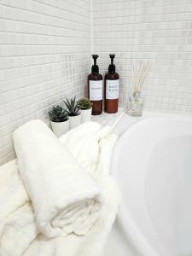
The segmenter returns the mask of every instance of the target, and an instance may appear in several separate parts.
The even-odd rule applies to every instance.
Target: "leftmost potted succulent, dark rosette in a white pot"
[[[67,111],[57,105],[49,111],[50,125],[57,137],[69,130],[69,119]]]

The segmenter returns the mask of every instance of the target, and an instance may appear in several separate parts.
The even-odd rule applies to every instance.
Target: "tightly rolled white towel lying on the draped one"
[[[47,237],[86,234],[102,208],[96,182],[40,120],[20,126],[14,144],[38,229]]]

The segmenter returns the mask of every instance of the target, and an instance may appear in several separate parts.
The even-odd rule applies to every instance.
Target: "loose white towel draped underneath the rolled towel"
[[[119,190],[108,175],[116,136],[111,128],[96,123],[79,125],[61,137],[71,154],[86,172],[97,174],[103,207],[96,224],[85,236],[59,236],[48,239],[39,235],[30,198],[20,180],[17,160],[0,166],[0,255],[1,256],[100,256],[119,207]],[[98,136],[100,134],[100,136]],[[77,139],[73,139],[74,136]],[[94,143],[90,143],[94,142]],[[74,145],[74,146],[73,146]],[[77,149],[78,148],[78,149]],[[89,150],[87,149],[89,148]],[[96,157],[87,157],[96,153]],[[35,159],[33,159],[35,161]],[[87,163],[86,163],[87,162]],[[95,170],[93,167],[95,166]],[[91,174],[91,175],[92,175]]]

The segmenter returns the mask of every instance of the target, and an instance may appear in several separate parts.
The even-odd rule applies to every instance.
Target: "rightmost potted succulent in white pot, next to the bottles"
[[[90,100],[86,97],[83,97],[79,99],[78,104],[81,112],[82,123],[90,121],[92,112],[92,104]]]

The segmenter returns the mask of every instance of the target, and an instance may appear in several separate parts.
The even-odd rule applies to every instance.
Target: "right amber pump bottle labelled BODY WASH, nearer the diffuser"
[[[115,55],[109,55],[111,64],[108,66],[108,73],[105,75],[105,89],[104,89],[104,110],[106,113],[118,112],[119,100],[119,74],[115,72],[115,65],[113,59]]]

